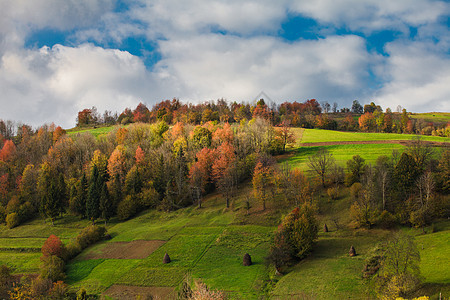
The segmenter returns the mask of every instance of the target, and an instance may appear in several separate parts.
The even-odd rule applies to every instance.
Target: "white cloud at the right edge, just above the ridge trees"
[[[387,46],[386,84],[375,101],[408,111],[450,111],[450,58],[434,44],[393,42]]]

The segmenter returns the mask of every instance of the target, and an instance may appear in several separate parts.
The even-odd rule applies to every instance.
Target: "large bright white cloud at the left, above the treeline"
[[[0,118],[71,127],[83,108],[121,111],[145,101],[149,76],[128,52],[89,44],[8,52],[0,64]]]

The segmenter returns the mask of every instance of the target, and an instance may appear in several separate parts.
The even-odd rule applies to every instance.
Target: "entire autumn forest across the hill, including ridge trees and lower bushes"
[[[0,121],[0,223],[5,230],[39,217],[52,225],[68,216],[92,223],[66,246],[51,236],[42,248],[46,267],[40,278],[55,282],[47,289],[53,292],[63,289],[59,280],[65,262],[104,238],[112,219],[129,220],[149,209],[202,209],[211,194],[219,194],[223,208],[231,209],[243,185],[251,187],[247,212],[256,205],[262,211],[273,205],[285,211],[266,257],[279,274],[313,251],[321,193],[335,200],[341,190],[349,191],[352,228],[425,230],[450,216],[450,123],[415,118],[406,109],[383,112],[373,102],[362,106],[356,100],[338,110],[337,104],[315,99],[280,105],[263,99],[255,105],[174,99],[151,109],[140,103],[120,114],[84,109],[76,122],[76,128],[64,130]],[[97,137],[85,131],[103,127],[108,130]],[[408,137],[404,151],[381,155],[374,164],[359,155],[338,164],[320,149],[308,157],[308,170],[301,170],[283,162],[295,152],[301,128],[415,135]],[[442,140],[424,139],[430,135]],[[410,247],[411,242],[398,237],[394,246],[402,243]],[[379,268],[380,261],[373,264]],[[58,268],[60,273],[49,271]],[[386,271],[380,293],[409,295],[419,281],[413,271],[408,266],[404,272]]]

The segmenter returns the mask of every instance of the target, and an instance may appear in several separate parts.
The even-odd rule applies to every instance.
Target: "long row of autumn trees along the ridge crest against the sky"
[[[263,118],[278,126],[288,122],[292,126],[305,128],[339,129],[345,131],[416,133],[426,135],[449,136],[450,126],[415,120],[409,117],[406,109],[398,108],[392,112],[389,108],[383,113],[379,105],[371,102],[364,107],[353,101],[351,109],[337,109],[337,103],[319,102],[315,99],[300,102],[266,104],[264,99],[255,105],[227,101],[205,102],[203,104],[183,104],[178,99],[162,101],[150,110],[139,103],[134,109],[126,108],[121,114],[105,111],[103,115],[95,107],[78,113],[77,126],[95,126],[100,124],[128,124],[132,122],[154,123],[165,121],[167,124],[182,122],[199,125],[209,121],[239,123],[242,120]]]

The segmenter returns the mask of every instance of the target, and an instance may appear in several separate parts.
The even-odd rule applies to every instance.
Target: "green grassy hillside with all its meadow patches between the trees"
[[[334,139],[334,135],[340,134],[324,130],[296,130],[295,133],[302,141],[306,137],[311,142],[323,141],[325,135]],[[349,133],[341,136],[341,141],[389,137],[376,135]],[[379,155],[390,155],[393,149],[404,148],[389,143],[301,146],[287,160],[295,167],[307,168],[307,157],[319,147],[333,153],[339,164],[355,154],[373,162]],[[86,249],[69,262],[66,282],[72,290],[83,287],[90,293],[118,298],[130,286],[168,298],[176,294],[186,276],[210,288],[224,290],[232,299],[371,299],[374,296],[361,278],[361,271],[365,259],[392,232],[350,228],[348,188],[342,187],[334,201],[324,191],[316,191],[314,202],[320,228],[326,223],[330,232],[321,232],[313,254],[283,276],[274,275],[273,269],[265,266],[264,257],[276,226],[289,208],[283,208],[275,198],[264,212],[260,203],[252,199],[247,214],[245,200],[250,194],[251,186],[247,182],[240,186],[229,209],[220,195],[212,194],[204,199],[202,209],[192,206],[168,213],[149,210],[126,222],[113,219],[107,225],[112,239]],[[36,273],[40,247],[50,234],[68,243],[89,223],[66,216],[57,220],[55,226],[38,219],[14,229],[1,227],[0,263],[6,263],[15,274]],[[420,292],[429,295],[442,292],[444,297],[449,297],[450,221],[437,223],[435,229],[436,232],[428,234],[416,229],[403,230],[417,236],[425,283]],[[356,248],[356,257],[348,256],[351,245]],[[163,264],[165,253],[172,259],[169,264]],[[251,255],[252,266],[242,265],[245,253]]]

